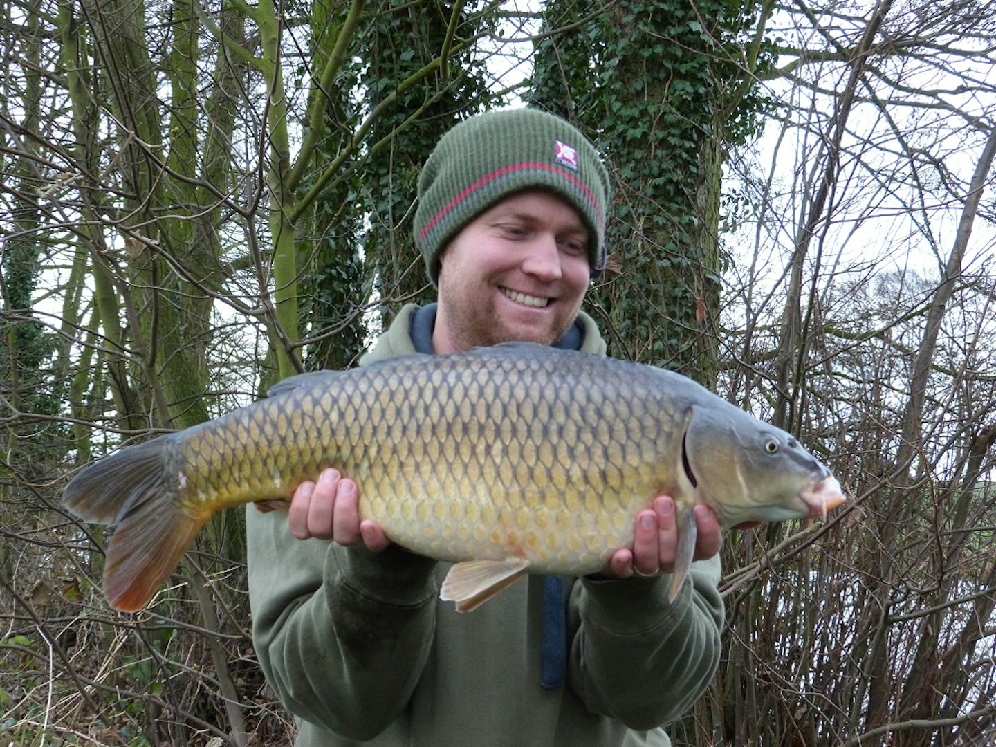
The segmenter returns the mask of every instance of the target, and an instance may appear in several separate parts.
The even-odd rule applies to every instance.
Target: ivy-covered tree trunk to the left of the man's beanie
[[[338,156],[365,118],[376,118],[363,156],[322,192],[299,226],[298,251],[306,258],[302,297],[309,304],[305,328],[317,338],[309,368],[356,363],[368,341],[367,305],[377,304],[386,323],[402,303],[434,296],[411,236],[421,164],[457,118],[493,100],[482,80],[466,72],[471,51],[460,46],[493,23],[487,14],[465,10],[445,75],[440,67],[418,78],[440,54],[451,13],[451,6],[435,2],[367,6],[364,44],[330,94],[317,170]],[[331,7],[315,5],[316,65],[341,21]],[[355,97],[357,91],[362,96]],[[303,181],[301,192],[313,183]]]

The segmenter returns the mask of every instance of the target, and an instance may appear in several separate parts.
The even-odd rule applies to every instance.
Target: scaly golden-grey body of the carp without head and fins
[[[436,357],[294,388],[191,429],[181,500],[286,497],[335,466],[358,483],[363,517],[409,550],[595,571],[672,486],[662,454],[677,427],[591,359],[562,371],[543,356]]]

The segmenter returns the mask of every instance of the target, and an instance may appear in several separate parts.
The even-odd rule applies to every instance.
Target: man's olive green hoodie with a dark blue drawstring
[[[413,353],[416,311],[361,365]],[[595,323],[579,324],[581,349],[604,355]],[[661,726],[719,661],[717,558],[692,564],[673,604],[666,575],[565,578],[566,683],[544,687],[544,577],[458,614],[438,600],[449,564],[296,540],[279,512],[249,507],[246,523],[253,641],[298,747],[664,747]]]

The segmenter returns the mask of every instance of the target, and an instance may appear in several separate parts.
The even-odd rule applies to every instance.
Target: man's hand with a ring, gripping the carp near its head
[[[696,505],[695,555],[692,560],[705,560],[719,552],[723,537],[712,509]],[[669,574],[674,570],[674,554],[678,546],[674,501],[666,495],[653,499],[653,508],[636,514],[632,548],[617,550],[609,561],[606,573],[619,579],[637,576]]]

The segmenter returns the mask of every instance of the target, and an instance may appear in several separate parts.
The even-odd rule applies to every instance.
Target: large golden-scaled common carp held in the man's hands
[[[694,504],[732,527],[845,500],[793,436],[685,376],[530,343],[292,376],[88,466],[63,500],[118,525],[104,589],[133,612],[214,512],[288,499],[329,466],[357,482],[363,518],[390,540],[457,564],[440,597],[460,611],[525,573],[603,569],[657,495],[677,507],[672,599],[694,552]]]

